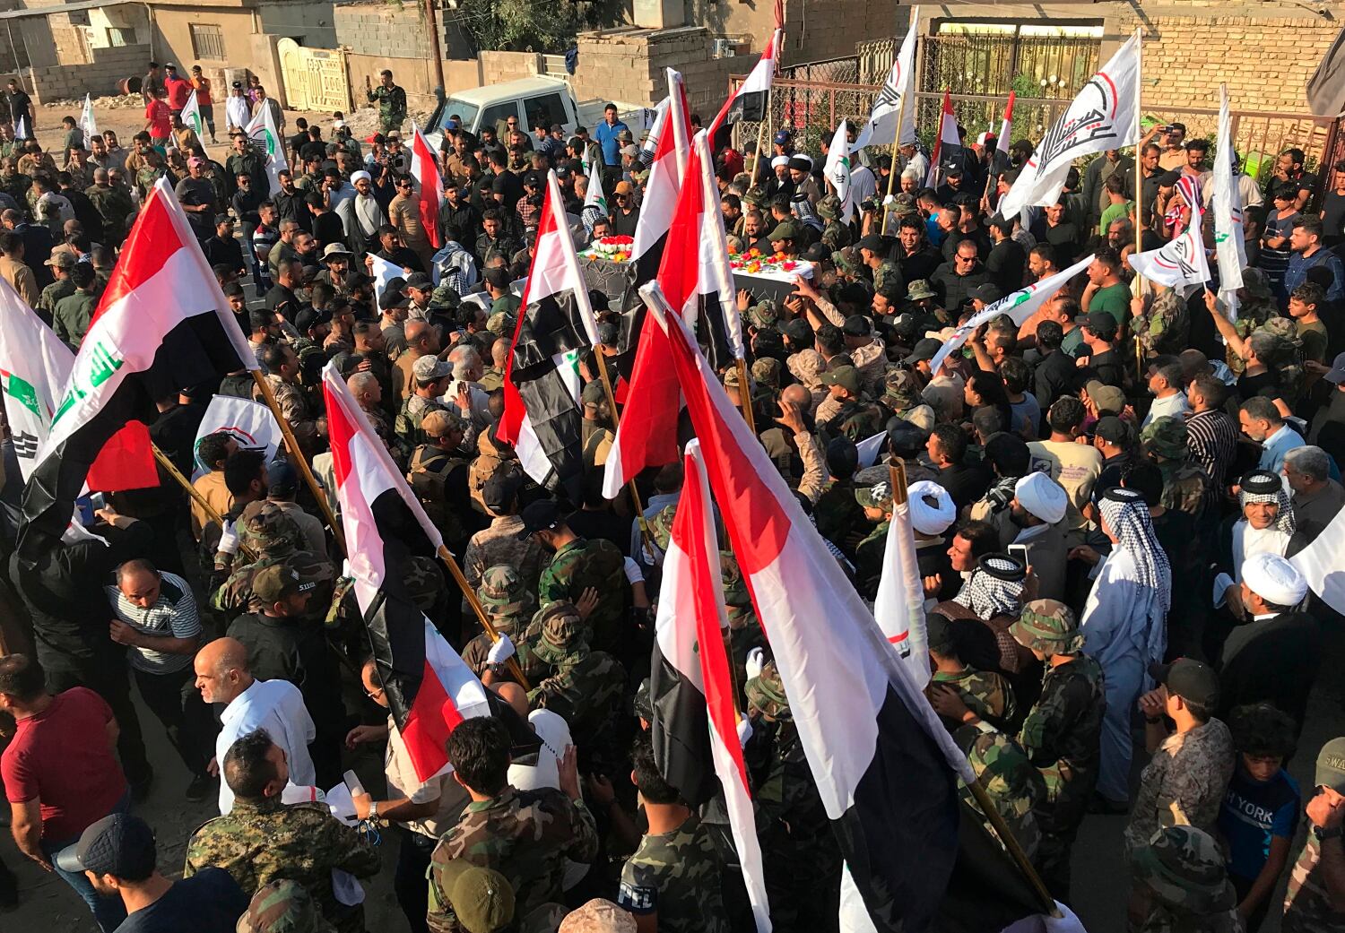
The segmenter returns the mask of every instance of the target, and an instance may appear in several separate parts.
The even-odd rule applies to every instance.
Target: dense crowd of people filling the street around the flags
[[[633,233],[650,153],[612,105],[569,134],[516,118],[475,134],[449,114],[434,247],[391,73],[369,89],[382,132],[355,140],[338,116],[324,137],[296,120],[274,191],[241,132],[274,101],[234,83],[219,163],[182,126],[183,85],[203,117],[211,106],[199,73],[151,66],[130,152],[112,133],[86,149],[73,120],[56,153],[13,138],[23,118],[35,128],[9,82],[0,277],[78,350],[137,206],[167,177],[299,448],[268,461],[227,432],[196,442],[213,395],[256,395],[246,370],[159,399],[151,437],[184,476],[200,472],[199,501],[167,476],[109,495],[100,538],[52,542],[27,569],[12,554],[23,481],[7,440],[5,589],[26,647],[0,657],[0,777],[19,851],[104,933],[362,930],[359,879],[385,860],[412,930],[753,929],[722,805],[689,807],[654,752],[655,604],[683,472],[646,471],[640,515],[603,496],[620,413],[596,354],[616,366],[628,350],[619,302],[593,292],[601,346],[577,360],[580,500],[541,488],[499,434],[527,313],[511,285],[529,272],[547,172],[582,247]],[[1345,505],[1345,164],[1325,186],[1298,149],[1271,177],[1237,173],[1248,266],[1227,315],[1213,292],[1184,297],[1127,262],[1137,242],[1200,220],[1209,145],[1180,124],[1150,130],[1138,165],[1104,153],[1071,171],[1059,203],[1007,219],[994,203],[1030,159],[1026,138],[1007,165],[993,137],[946,152],[937,187],[921,147],[896,163],[870,149],[851,223],[824,152],[798,151],[788,130],[756,159],[717,143],[730,249],[812,263],[780,301],[738,293],[748,379],[730,368],[725,390],[755,411],[865,600],[889,571],[894,501],[909,503],[925,696],[1050,894],[1071,902],[1085,815],[1124,816],[1128,929],[1250,932],[1280,911],[1286,932],[1345,929],[1345,738],[1297,749],[1340,617],[1290,559],[1340,534]],[[596,176],[607,211],[585,206]],[[932,371],[960,321],[1088,253],[1087,273],[1026,324],[994,319]],[[402,272],[381,290],[375,258]],[[503,636],[480,631],[436,559],[394,569],[499,700],[452,730],[452,768],[425,781],[296,468],[312,466],[339,514],[328,363]],[[724,549],[771,916],[779,930],[835,929],[839,850],[769,633]],[[132,812],[179,780],[149,761],[147,729],[180,758],[180,793],[218,807],[187,839],[180,879],[160,874],[163,840]],[[369,749],[385,780],[351,785]],[[1286,770],[1295,754],[1315,756],[1310,788]],[[340,786],[348,803],[324,799]],[[968,796],[970,819],[978,808]],[[15,897],[5,871],[0,898]]]

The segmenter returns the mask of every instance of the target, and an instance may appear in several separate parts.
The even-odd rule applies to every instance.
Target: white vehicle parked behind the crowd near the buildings
[[[638,104],[615,102],[620,118],[635,133],[639,141],[640,130],[654,118],[654,109]],[[461,125],[472,133],[480,133],[483,126],[494,126],[496,136],[504,138],[510,117],[519,121],[519,129],[529,136],[538,124],[551,126],[560,124],[569,136],[576,126],[586,126],[589,132],[603,120],[607,101],[586,101],[577,104],[570,86],[561,78],[521,78],[488,87],[472,87],[455,91],[444,98],[429,120],[425,137],[438,148],[444,137],[444,124],[449,117],[457,117]]]

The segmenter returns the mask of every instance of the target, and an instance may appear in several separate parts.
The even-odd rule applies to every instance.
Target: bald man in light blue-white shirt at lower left
[[[247,670],[247,649],[237,639],[217,639],[196,652],[192,664],[196,690],[207,703],[223,703],[215,757],[208,768],[219,774],[219,762],[234,739],[257,729],[270,733],[289,762],[289,781],[311,786],[316,780],[308,743],[317,737],[304,695],[288,680],[258,680]],[[219,782],[219,813],[234,808],[234,792]]]

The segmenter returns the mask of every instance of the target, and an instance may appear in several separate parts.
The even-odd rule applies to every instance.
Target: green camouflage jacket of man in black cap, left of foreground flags
[[[588,641],[597,651],[611,651],[623,643],[631,605],[625,558],[612,542],[577,538],[555,551],[538,579],[537,605],[545,608],[561,600],[578,602],[590,586],[597,590],[599,604],[588,617],[592,633]]]

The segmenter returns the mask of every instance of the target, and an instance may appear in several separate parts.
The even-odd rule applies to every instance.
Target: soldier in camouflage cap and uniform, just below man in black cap
[[[592,651],[584,620],[572,602],[543,606],[527,626],[527,702],[565,719],[585,756],[621,757],[616,717],[625,691],[625,668],[605,651]]]

